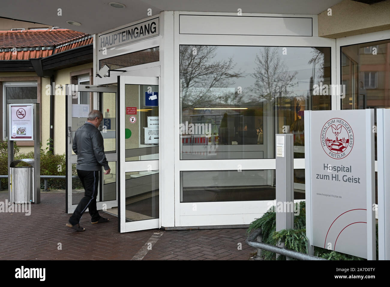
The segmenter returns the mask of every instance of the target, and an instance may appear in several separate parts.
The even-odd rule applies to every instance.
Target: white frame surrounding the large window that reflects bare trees
[[[214,12],[174,12],[174,94],[175,94],[175,123],[174,130],[179,131],[180,125],[180,78],[179,78],[179,45],[226,45],[226,46],[282,46],[282,47],[330,47],[331,50],[331,82],[336,83],[336,44],[335,39],[318,37],[317,15],[276,15],[276,14],[247,14],[247,16],[270,17],[307,17],[312,18],[313,36],[261,36],[261,35],[211,35],[211,34],[180,34],[180,15],[229,15],[237,16],[237,13]],[[243,13],[244,16],[244,13]],[[218,17],[215,17],[215,25],[218,25]],[[191,23],[190,23],[191,24]],[[193,22],[194,29],[202,29],[202,25]],[[189,23],[187,23],[189,25]],[[242,30],[245,30],[243,22]],[[189,25],[191,26],[191,25]],[[288,49],[288,48],[287,48]],[[332,110],[336,109],[335,96],[332,96]],[[255,217],[267,210],[268,201],[226,201],[226,202],[180,202],[180,172],[181,171],[217,171],[237,170],[238,165],[242,170],[250,169],[275,169],[275,159],[240,159],[240,160],[180,160],[180,135],[174,134],[175,150],[175,226],[211,226],[211,225],[243,225],[249,224]],[[294,169],[304,169],[305,159],[294,159]],[[196,205],[194,209],[193,204]],[[234,214],[232,214],[234,210]]]

